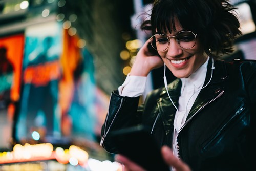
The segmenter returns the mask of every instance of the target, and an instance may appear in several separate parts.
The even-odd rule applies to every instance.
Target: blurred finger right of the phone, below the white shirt
[[[176,156],[173,155],[172,149],[167,146],[163,146],[161,149],[164,161],[173,166],[177,171],[190,171],[190,168],[187,164],[179,160]]]

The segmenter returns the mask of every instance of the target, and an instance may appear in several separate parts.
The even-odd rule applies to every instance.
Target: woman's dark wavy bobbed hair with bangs
[[[156,30],[171,33],[177,18],[185,30],[198,35],[207,55],[218,57],[233,52],[233,41],[242,34],[235,9],[224,0],[155,0],[141,29],[152,35]]]

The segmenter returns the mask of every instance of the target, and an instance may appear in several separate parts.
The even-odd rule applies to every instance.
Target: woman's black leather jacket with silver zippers
[[[202,89],[185,124],[178,133],[178,156],[193,170],[253,170],[256,162],[256,62],[214,61],[215,70],[208,86]],[[208,63],[205,83],[211,75]],[[175,105],[181,80],[168,85]],[[116,129],[143,123],[160,146],[172,147],[175,108],[165,88],[148,94],[138,108],[139,97],[111,94],[109,112],[102,126],[103,147],[118,153],[108,134]],[[256,167],[254,167],[256,170]]]

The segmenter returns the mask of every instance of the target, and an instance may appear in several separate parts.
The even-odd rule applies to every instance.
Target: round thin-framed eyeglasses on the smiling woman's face
[[[177,43],[183,49],[190,49],[196,45],[197,35],[191,31],[180,31],[175,36],[166,36],[164,34],[155,34],[150,38],[151,46],[157,51],[165,51],[170,46],[170,39],[175,38]]]

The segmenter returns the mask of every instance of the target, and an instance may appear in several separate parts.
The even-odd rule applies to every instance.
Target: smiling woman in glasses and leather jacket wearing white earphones
[[[144,124],[163,146],[166,163],[176,170],[251,170],[256,63],[217,59],[232,52],[233,40],[241,35],[233,10],[223,0],[154,2],[150,20],[142,24],[153,36],[111,94],[102,126],[106,151],[118,153],[108,137],[112,131]],[[146,76],[163,65],[177,79],[167,85],[164,76],[165,87],[149,93],[138,108]],[[117,160],[126,170],[143,170],[124,156]]]

